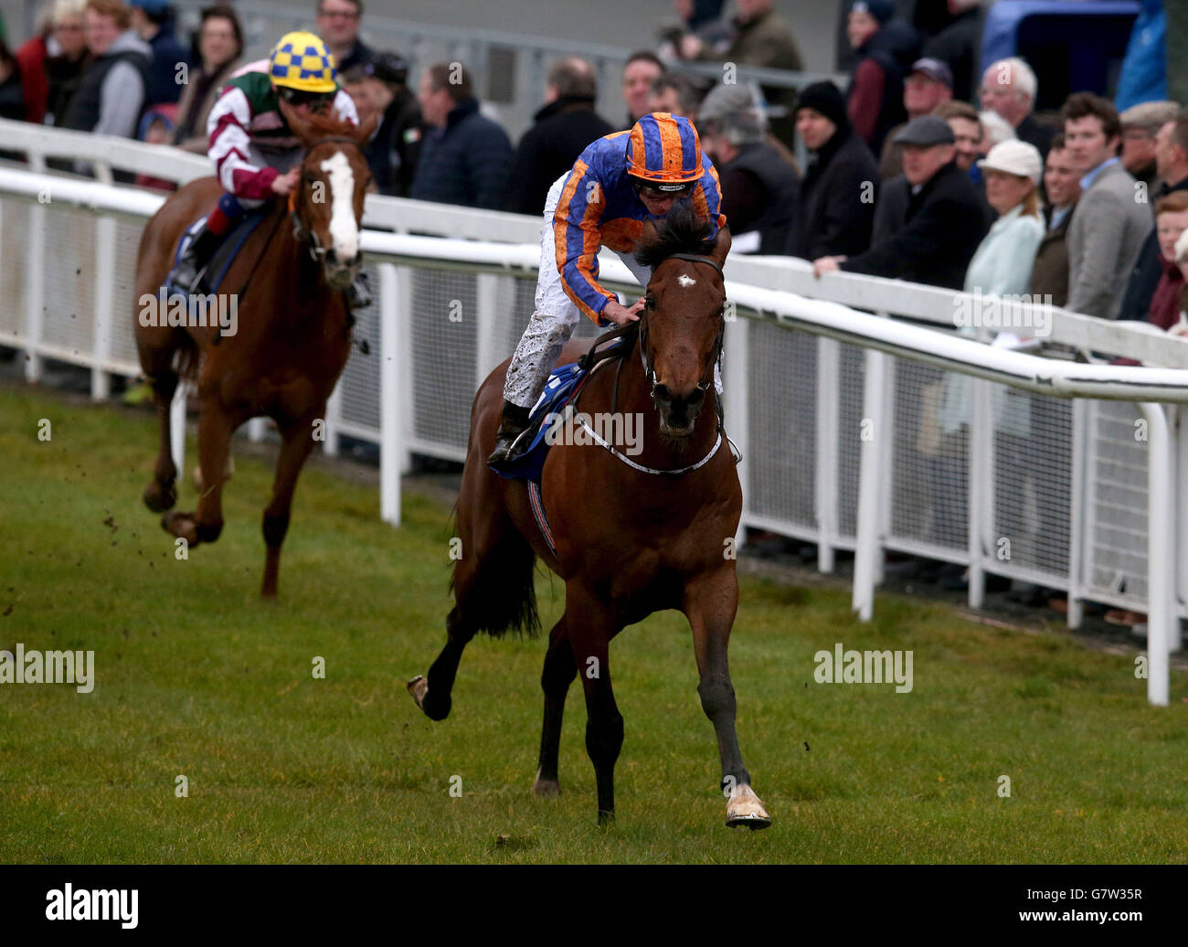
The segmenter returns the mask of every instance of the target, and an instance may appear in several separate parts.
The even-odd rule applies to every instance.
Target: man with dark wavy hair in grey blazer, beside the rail
[[[1081,200],[1068,227],[1068,305],[1114,318],[1126,279],[1154,222],[1135,178],[1118,158],[1121,121],[1113,103],[1074,93],[1061,109],[1064,140],[1081,172]]]

